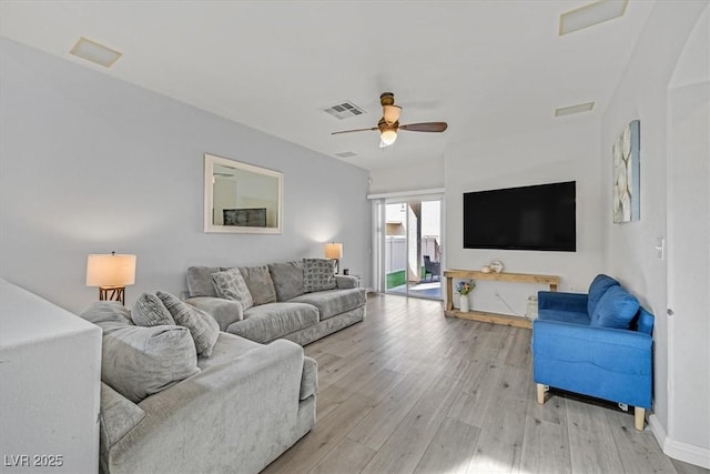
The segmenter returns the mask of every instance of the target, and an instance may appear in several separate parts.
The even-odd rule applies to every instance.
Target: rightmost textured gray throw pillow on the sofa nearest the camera
[[[190,330],[197,354],[209,357],[220,336],[220,325],[214,317],[195,306],[183,303],[170,293],[159,291],[156,294],[175,323]]]

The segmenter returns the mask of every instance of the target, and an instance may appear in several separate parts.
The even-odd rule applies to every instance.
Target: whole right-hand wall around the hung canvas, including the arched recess
[[[683,8],[656,3],[601,122],[602,175],[609,177],[601,182],[609,215],[604,220],[605,268],[656,315],[651,428],[666,454],[706,467],[710,467],[708,3],[688,1]],[[689,50],[698,57],[683,61]],[[679,70],[678,64],[684,67]],[[611,143],[635,119],[641,127],[641,219],[612,224]],[[697,202],[688,204],[686,193]],[[681,204],[692,205],[692,212]],[[668,243],[665,259],[656,251],[659,239]],[[669,317],[667,307],[678,310],[677,315]]]

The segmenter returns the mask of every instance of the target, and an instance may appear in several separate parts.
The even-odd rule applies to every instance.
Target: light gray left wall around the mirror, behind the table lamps
[[[367,172],[104,73],[0,41],[0,271],[71,311],[95,300],[89,253],[138,254],[142,292],[189,265],[323,256],[369,275]],[[203,154],[284,172],[282,235],[203,232]]]

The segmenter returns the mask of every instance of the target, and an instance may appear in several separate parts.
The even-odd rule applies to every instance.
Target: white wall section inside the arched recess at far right
[[[691,446],[693,456],[698,446],[710,468],[710,7],[676,65],[668,103],[669,448]]]

